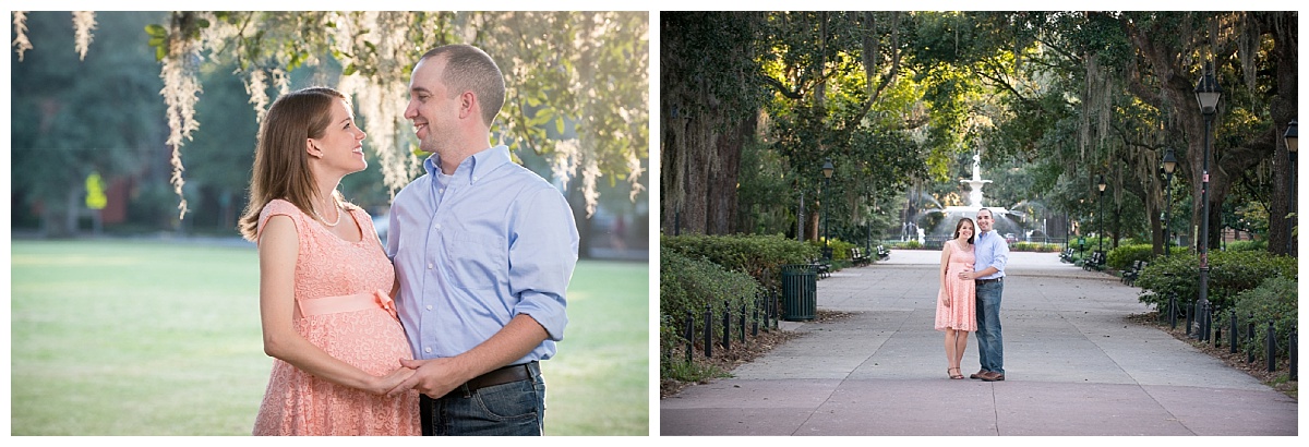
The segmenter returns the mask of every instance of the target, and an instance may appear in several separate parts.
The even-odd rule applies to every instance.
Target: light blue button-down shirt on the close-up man
[[[577,225],[559,190],[513,163],[507,146],[427,175],[391,203],[386,255],[397,311],[416,358],[462,354],[520,314],[550,333],[526,357],[548,359],[563,340],[565,290],[577,264]]]

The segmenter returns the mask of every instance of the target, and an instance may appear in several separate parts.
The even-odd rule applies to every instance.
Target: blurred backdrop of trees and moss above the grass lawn
[[[583,239],[580,256],[647,257],[648,13],[364,17],[348,12],[98,12],[85,31],[76,29],[76,14],[69,12],[24,16],[24,41],[31,48],[10,52],[14,237],[236,237],[259,108],[266,110],[280,91],[313,85],[353,93],[356,115],[369,133],[364,140],[369,169],[346,176],[340,191],[385,221],[391,193],[420,174],[418,166],[425,156],[411,153],[416,140],[399,116],[407,101],[410,60],[441,43],[469,42],[499,59],[511,84],[493,131],[499,142],[513,146],[522,165],[552,180],[573,204]],[[520,30],[529,35],[537,31],[534,38],[541,42],[526,48],[490,42],[503,30],[486,30],[482,24],[501,18],[525,26]],[[357,27],[342,31],[352,21]],[[187,22],[208,24],[188,30]],[[564,22],[576,29],[565,30]],[[220,25],[234,30],[220,30]],[[173,41],[152,42],[156,37],[148,26],[158,26]],[[363,33],[380,26],[395,30]],[[161,76],[169,73],[161,73],[164,63],[157,54],[162,54],[161,46],[179,46],[175,34],[191,31],[200,35],[192,42],[195,51],[164,59],[186,59],[190,72],[183,74],[192,76],[196,85],[188,105],[194,107],[194,129],[177,145],[185,182],[179,196],[170,182],[175,171],[169,120],[186,118],[179,119],[168,105],[164,90],[174,86]],[[350,31],[355,34],[348,42],[335,41],[347,39],[340,33]],[[84,56],[79,33],[90,37]],[[382,43],[368,41],[397,35],[404,42],[389,54]],[[488,42],[470,42],[463,35],[482,35]],[[579,42],[586,37],[589,42]],[[356,46],[377,50],[346,56]],[[605,67],[597,54],[610,51],[617,58]],[[391,60],[393,69],[367,73],[363,65],[380,59]],[[619,59],[622,64],[617,64]],[[395,64],[399,60],[407,63]],[[590,64],[585,68],[592,73],[581,73],[579,63]],[[594,89],[590,81],[605,82],[606,89]],[[390,90],[378,93],[380,88]],[[394,110],[382,111],[386,106]],[[381,120],[390,123],[377,123]],[[387,170],[401,175],[387,179]],[[185,216],[178,210],[182,199]]]

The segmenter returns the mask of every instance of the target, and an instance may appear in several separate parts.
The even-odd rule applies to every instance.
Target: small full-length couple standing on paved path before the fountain
[[[959,362],[969,332],[978,333],[982,369],[969,375],[986,382],[1004,380],[1004,341],[1000,337],[1000,294],[1009,244],[995,231],[995,217],[982,208],[977,226],[967,217],[954,225],[954,237],[941,250],[941,291],[936,302],[936,329],[945,332],[946,374],[963,379]],[[975,242],[975,243],[974,243]]]

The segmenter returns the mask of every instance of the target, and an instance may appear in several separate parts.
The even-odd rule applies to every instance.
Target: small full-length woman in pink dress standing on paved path
[[[969,346],[969,332],[977,331],[977,288],[959,273],[973,272],[973,220],[965,217],[954,225],[954,238],[941,248],[941,291],[936,301],[936,329],[945,331],[945,359],[950,379],[963,379],[959,363]]]

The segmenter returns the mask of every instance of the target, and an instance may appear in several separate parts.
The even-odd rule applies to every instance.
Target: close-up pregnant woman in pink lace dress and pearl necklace
[[[395,272],[373,221],[336,184],[368,167],[346,97],[278,98],[259,127],[241,235],[259,244],[259,316],[272,374],[255,435],[418,435]]]

